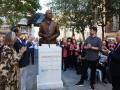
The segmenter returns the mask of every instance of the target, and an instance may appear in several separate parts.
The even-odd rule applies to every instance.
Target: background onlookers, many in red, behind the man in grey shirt
[[[109,51],[114,50],[116,45],[117,43],[115,40],[102,41],[102,48]],[[60,46],[62,48],[62,70],[66,71],[67,69],[75,69],[76,74],[80,74],[82,61],[85,59],[84,42],[77,43],[77,40],[71,37],[63,38],[63,40],[60,41]],[[108,63],[108,55],[101,51],[99,53],[97,68],[103,70],[107,68]],[[104,78],[106,76],[106,71],[103,70],[102,72]]]

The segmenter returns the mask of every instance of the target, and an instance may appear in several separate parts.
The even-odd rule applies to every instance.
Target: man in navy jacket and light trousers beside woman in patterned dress
[[[19,50],[22,47],[26,47],[27,50],[26,52],[23,54],[20,62],[19,62],[19,67],[20,67],[20,88],[21,90],[27,90],[27,76],[28,76],[28,68],[27,66],[29,65],[29,48],[27,47],[27,44],[23,43],[23,41],[20,39],[21,36],[21,32],[19,30],[18,27],[12,27],[11,29],[12,31],[14,31],[16,33],[16,42],[14,44],[14,48],[16,49],[16,51],[19,53]]]

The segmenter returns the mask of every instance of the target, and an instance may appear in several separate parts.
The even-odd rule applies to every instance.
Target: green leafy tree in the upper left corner
[[[34,14],[40,9],[37,0],[0,0],[0,16],[6,17],[9,24],[16,24],[28,14]]]

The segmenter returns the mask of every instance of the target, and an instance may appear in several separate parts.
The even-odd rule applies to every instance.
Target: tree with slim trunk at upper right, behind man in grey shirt
[[[93,9],[97,9],[97,20],[102,27],[102,38],[104,38],[104,27],[107,21],[112,21],[113,16],[120,18],[120,0],[92,0]],[[105,19],[104,19],[105,18]],[[119,19],[120,26],[120,19]],[[120,28],[120,27],[119,27]]]

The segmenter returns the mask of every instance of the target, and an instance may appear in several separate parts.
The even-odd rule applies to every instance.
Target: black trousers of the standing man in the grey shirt
[[[91,74],[90,74],[90,85],[95,83],[95,77],[96,77],[96,64],[97,64],[97,60],[96,61],[88,61],[88,60],[84,60],[82,62],[82,73],[81,73],[81,82],[84,82],[84,80],[86,79],[86,73],[88,68],[90,67],[91,69]]]

